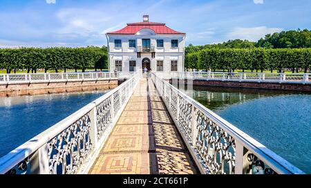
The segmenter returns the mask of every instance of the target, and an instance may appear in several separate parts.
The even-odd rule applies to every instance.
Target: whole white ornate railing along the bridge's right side
[[[157,74],[151,74],[151,79],[201,173],[303,174]]]

